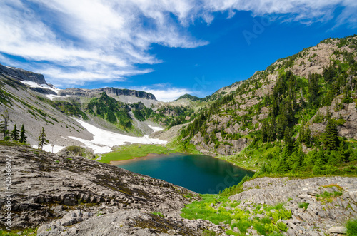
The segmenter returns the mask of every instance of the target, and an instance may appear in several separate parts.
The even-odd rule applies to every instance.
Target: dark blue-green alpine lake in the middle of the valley
[[[116,166],[166,180],[197,193],[211,194],[236,185],[245,175],[254,174],[253,171],[238,168],[224,160],[181,153],[136,158]]]

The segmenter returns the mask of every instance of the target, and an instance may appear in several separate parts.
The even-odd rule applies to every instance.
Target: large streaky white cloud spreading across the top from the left
[[[251,11],[253,15],[281,14],[283,21],[311,23],[333,19],[336,25],[357,26],[353,0],[2,0],[0,52],[25,58],[27,69],[44,73],[51,83],[121,81],[149,73],[138,64],[161,63],[151,55],[153,43],[196,48],[208,41],[195,39],[188,26],[196,19],[207,24],[213,13]],[[1,56],[1,61],[10,58]]]

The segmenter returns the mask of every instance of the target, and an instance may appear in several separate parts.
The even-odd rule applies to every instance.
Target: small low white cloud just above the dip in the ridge
[[[158,101],[163,102],[174,101],[186,93],[192,93],[192,91],[189,91],[186,88],[176,88],[166,83],[159,83],[144,87],[133,87],[131,89],[152,93]]]

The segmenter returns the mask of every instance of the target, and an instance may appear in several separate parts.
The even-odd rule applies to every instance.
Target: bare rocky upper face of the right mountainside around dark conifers
[[[333,68],[333,66],[341,68],[342,71],[337,72],[340,77],[342,74],[343,76],[346,75],[343,80],[347,81],[349,92],[342,92],[343,90],[346,91],[346,87],[342,87],[339,88],[340,90],[333,98],[329,98],[327,97],[328,91],[323,90],[324,86],[319,84],[319,96],[326,96],[323,99],[331,99],[329,101],[331,103],[326,102],[328,106],[321,106],[317,112],[314,111],[316,112],[313,113],[314,116],[309,116],[305,122],[308,122],[313,135],[323,133],[327,120],[323,119],[316,123],[315,118],[316,116],[323,116],[321,115],[323,113],[326,115],[328,109],[331,116],[336,120],[338,118],[345,120],[343,125],[338,125],[339,135],[346,138],[357,138],[356,100],[353,99],[357,96],[356,72],[354,71],[355,68],[350,66],[357,60],[356,40],[357,36],[326,39],[317,46],[306,48],[296,55],[276,61],[266,70],[257,71],[246,81],[233,83],[231,86],[222,88],[214,93],[217,96],[216,103],[213,102],[207,106],[205,111],[201,112],[199,117],[202,120],[197,120],[197,124],[193,123],[191,127],[188,127],[187,132],[183,133],[183,142],[189,140],[198,150],[207,155],[235,155],[241,152],[261,130],[263,123],[269,120],[272,111],[272,104],[269,101],[272,101],[273,96],[275,96],[273,91],[281,75],[291,71],[293,76],[296,77],[296,83],[299,83],[302,87],[299,88],[299,91],[294,91],[295,94],[290,98],[294,102],[294,109],[296,109],[297,106],[308,103],[308,97],[311,96],[309,94],[311,92],[308,91],[310,79],[308,76],[313,73],[321,77],[326,76],[326,71],[331,70],[330,68]],[[321,79],[319,83],[322,83]],[[218,94],[221,94],[221,96],[218,96]],[[351,96],[348,103],[343,100],[346,98],[346,94]],[[224,99],[222,100],[222,98]],[[301,120],[301,118],[296,118],[296,120]],[[196,128],[194,128],[195,125],[197,125]],[[190,129],[195,131],[187,136]],[[253,133],[256,133],[256,135],[253,135]]]

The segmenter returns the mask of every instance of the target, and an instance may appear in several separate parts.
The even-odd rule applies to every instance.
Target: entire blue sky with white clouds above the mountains
[[[59,88],[134,88],[172,101],[356,28],[351,0],[2,0],[0,63]]]

